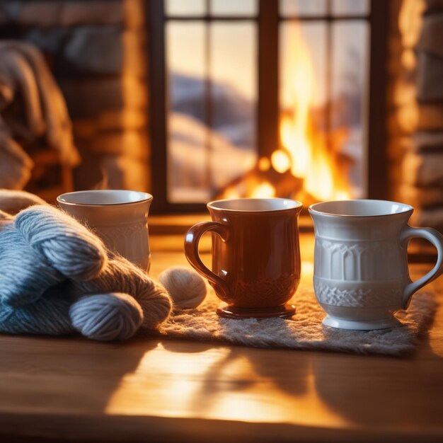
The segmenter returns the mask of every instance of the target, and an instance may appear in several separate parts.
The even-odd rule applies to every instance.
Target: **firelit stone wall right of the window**
[[[443,1],[392,8],[391,193],[416,208],[413,223],[443,231]]]

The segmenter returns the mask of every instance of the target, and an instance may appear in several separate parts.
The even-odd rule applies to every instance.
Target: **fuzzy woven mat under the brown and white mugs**
[[[323,326],[324,311],[313,289],[299,287],[293,300],[292,319],[229,319],[217,316],[220,304],[212,289],[197,308],[176,311],[160,330],[161,335],[188,340],[210,340],[251,347],[328,350],[356,354],[403,356],[412,354],[434,318],[437,302],[426,292],[414,295],[408,311],[399,311],[403,326],[383,330],[341,330]]]

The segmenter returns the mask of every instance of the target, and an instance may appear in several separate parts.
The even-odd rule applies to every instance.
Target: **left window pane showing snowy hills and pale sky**
[[[166,25],[168,200],[207,202],[255,164],[253,23]]]

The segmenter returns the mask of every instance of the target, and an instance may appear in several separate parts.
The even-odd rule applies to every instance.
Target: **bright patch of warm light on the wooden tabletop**
[[[279,359],[275,363],[280,364]],[[166,367],[172,372],[159,378]],[[293,386],[276,384],[269,367],[242,350],[220,347],[190,353],[178,347],[165,352],[158,345],[142,356],[134,372],[122,377],[105,413],[350,425],[318,396],[310,365],[281,370],[294,372]]]

